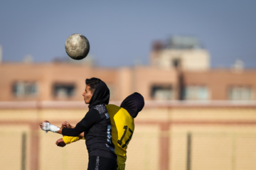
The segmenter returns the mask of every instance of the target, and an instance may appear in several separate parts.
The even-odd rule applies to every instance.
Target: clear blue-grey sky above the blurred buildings
[[[196,36],[210,52],[211,67],[240,59],[256,68],[256,1],[9,0],[0,4],[4,62],[68,57],[65,40],[81,33],[90,57],[102,67],[149,63],[154,40]],[[86,58],[85,58],[86,60]]]

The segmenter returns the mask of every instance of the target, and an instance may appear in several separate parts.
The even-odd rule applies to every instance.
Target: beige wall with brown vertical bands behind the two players
[[[113,102],[112,102],[113,103]],[[119,104],[119,102],[117,102]],[[39,130],[49,120],[75,125],[87,112],[83,103],[0,103],[3,169],[20,169],[22,135],[26,134],[27,169],[86,169],[84,141],[56,147],[61,136]],[[127,149],[127,169],[186,170],[188,132],[191,169],[256,169],[256,105],[184,104],[146,101],[135,119]]]

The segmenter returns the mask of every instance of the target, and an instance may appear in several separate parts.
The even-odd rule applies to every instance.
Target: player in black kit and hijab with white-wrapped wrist
[[[87,170],[115,170],[117,169],[117,155],[112,145],[110,116],[106,105],[110,101],[110,90],[104,81],[91,78],[86,79],[84,96],[89,104],[89,111],[75,128],[58,128],[48,121],[40,123],[41,129],[57,132],[62,135],[76,137],[85,134],[85,144],[89,154]]]

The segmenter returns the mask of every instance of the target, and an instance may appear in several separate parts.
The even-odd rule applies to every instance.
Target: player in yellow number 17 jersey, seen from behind
[[[107,112],[110,115],[112,143],[114,153],[117,154],[117,169],[124,170],[127,159],[127,145],[132,139],[134,132],[134,118],[142,111],[144,107],[144,98],[139,93],[134,93],[122,101],[121,106],[107,105]],[[73,128],[68,122],[63,123],[65,128]],[[57,140],[56,145],[64,147],[66,144],[78,141],[83,134],[78,137],[64,136]]]

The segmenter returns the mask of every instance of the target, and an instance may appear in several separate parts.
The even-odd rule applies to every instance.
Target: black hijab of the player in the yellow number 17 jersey
[[[121,106],[126,109],[133,118],[136,118],[138,113],[144,107],[144,98],[141,94],[135,92],[122,101]]]

